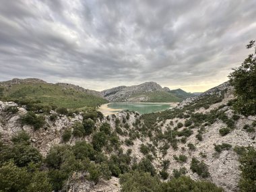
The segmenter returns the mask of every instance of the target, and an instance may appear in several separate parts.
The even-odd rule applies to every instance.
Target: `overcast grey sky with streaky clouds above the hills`
[[[256,39],[256,1],[0,0],[0,81],[205,91]]]

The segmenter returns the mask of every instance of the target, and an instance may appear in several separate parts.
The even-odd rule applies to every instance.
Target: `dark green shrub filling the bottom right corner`
[[[241,179],[239,188],[241,192],[256,191],[256,150],[253,147],[243,148],[243,153],[239,157],[241,163]]]

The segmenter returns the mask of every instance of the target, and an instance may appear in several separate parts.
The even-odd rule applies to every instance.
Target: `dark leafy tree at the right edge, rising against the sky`
[[[256,115],[256,44],[254,40],[247,45],[247,49],[252,47],[255,48],[254,53],[250,54],[242,65],[228,76],[237,96],[233,107],[245,116]]]

